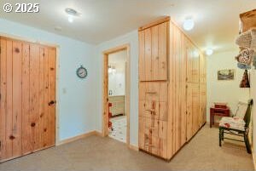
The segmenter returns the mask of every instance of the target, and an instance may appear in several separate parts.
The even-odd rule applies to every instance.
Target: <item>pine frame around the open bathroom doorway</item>
[[[102,136],[108,136],[108,55],[122,50],[127,52],[127,68],[125,69],[125,115],[127,118],[126,145],[130,145],[130,94],[131,94],[131,56],[130,44],[123,44],[103,51],[103,87],[102,87]]]

